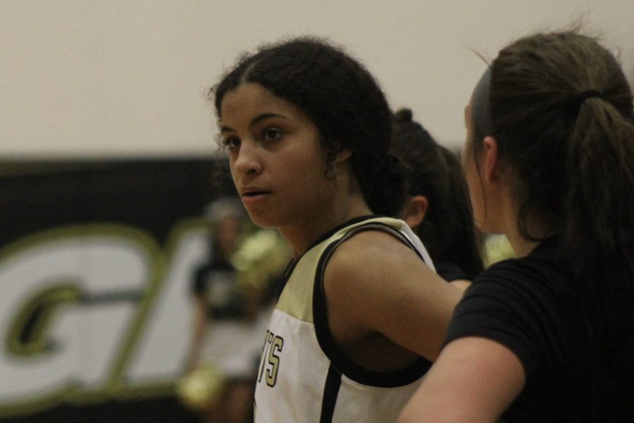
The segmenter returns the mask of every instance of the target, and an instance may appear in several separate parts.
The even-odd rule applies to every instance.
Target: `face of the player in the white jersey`
[[[328,213],[335,187],[324,177],[326,151],[299,108],[247,83],[225,94],[220,113],[233,182],[256,225],[311,225]]]

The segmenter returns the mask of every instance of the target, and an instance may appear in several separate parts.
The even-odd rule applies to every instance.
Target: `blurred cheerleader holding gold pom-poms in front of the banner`
[[[194,330],[189,355],[189,405],[203,410],[206,423],[249,422],[252,412],[258,303],[239,283],[233,257],[247,229],[246,213],[237,198],[220,198],[209,206],[209,261],[192,280]]]

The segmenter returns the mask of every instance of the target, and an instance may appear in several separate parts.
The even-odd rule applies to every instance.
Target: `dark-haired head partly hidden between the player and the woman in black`
[[[408,197],[399,217],[423,241],[436,272],[466,289],[483,263],[460,161],[407,108],[394,113],[392,150],[407,175]]]

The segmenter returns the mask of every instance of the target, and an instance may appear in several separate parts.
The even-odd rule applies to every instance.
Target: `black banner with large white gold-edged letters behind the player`
[[[0,421],[188,422],[211,158],[0,162]]]

